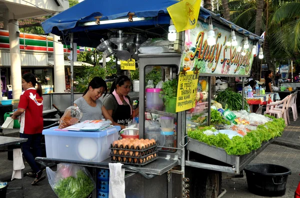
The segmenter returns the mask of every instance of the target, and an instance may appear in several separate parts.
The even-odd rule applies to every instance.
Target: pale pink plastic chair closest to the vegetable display
[[[286,111],[285,111],[285,108],[278,108],[278,105],[282,104],[283,107],[286,106],[286,103],[287,103],[287,99],[288,99],[288,96],[286,96],[283,100],[281,101],[277,101],[277,102],[272,102],[270,104],[267,104],[266,105],[266,111],[263,113],[264,115],[265,114],[268,114],[268,115],[274,115],[276,116],[277,118],[283,118],[284,121],[285,121],[285,125],[287,125],[287,116],[286,116]]]

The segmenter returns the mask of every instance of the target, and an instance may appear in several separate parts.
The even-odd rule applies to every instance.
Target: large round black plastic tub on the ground
[[[250,164],[244,169],[249,192],[265,197],[285,194],[289,168],[272,164]]]

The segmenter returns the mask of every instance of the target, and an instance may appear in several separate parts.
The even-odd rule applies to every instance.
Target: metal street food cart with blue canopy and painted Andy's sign
[[[176,2],[169,0],[151,2],[84,0],[51,17],[42,25],[46,33],[52,32],[60,35],[61,40],[66,44],[70,43],[71,46],[73,42],[76,42],[77,45],[97,47],[100,38],[106,36],[108,32],[113,32],[116,28],[130,31],[130,33],[162,36],[167,32],[166,28],[170,23],[166,7]],[[216,44],[213,46],[208,46],[206,41],[208,20],[212,20],[213,29],[217,32]],[[156,28],[151,30],[149,26]],[[232,35],[232,31],[236,33],[235,39],[238,46],[241,46],[244,40],[249,39],[250,51],[238,52],[238,46],[228,47],[225,45],[226,40],[229,40]],[[148,112],[176,119],[177,126],[174,134],[176,143],[173,147],[164,147],[166,151],[160,151],[159,158],[145,166],[124,165],[122,167],[126,173],[129,173],[125,176],[126,196],[138,198],[221,197],[225,193],[224,190],[221,190],[222,173],[240,174],[242,169],[273,141],[264,142],[259,149],[246,155],[232,156],[223,149],[191,139],[187,137],[186,133],[186,119],[192,115],[192,112],[185,110],[194,107],[196,93],[193,90],[197,89],[198,76],[205,78],[207,83],[207,91],[204,91],[207,94],[206,99],[202,101],[205,105],[200,109],[201,112],[207,111],[207,125],[209,125],[211,76],[249,76],[254,58],[251,53],[252,45],[256,46],[257,42],[262,41],[263,39],[259,36],[201,7],[196,27],[176,33],[176,41],[170,43],[173,48],[172,52],[135,56],[139,61],[139,138],[143,138],[145,135],[144,113]],[[241,52],[244,52],[244,55],[241,55]],[[190,68],[185,69],[185,72],[186,64],[189,64]],[[185,92],[181,92],[182,97],[176,98],[176,103],[181,104],[177,105],[177,113],[145,108],[145,70],[149,66],[168,67],[169,69],[165,71],[169,72],[170,79],[178,79],[179,82],[180,79],[181,82],[184,79],[185,81],[195,80],[196,83],[192,82],[191,88],[187,88],[190,91],[186,92],[188,96],[184,95]],[[71,61],[71,82],[73,81],[72,69]],[[185,76],[191,76],[191,78]],[[72,91],[73,89],[71,89],[70,104],[73,103]],[[46,166],[54,162],[92,167],[93,173],[95,173],[96,168],[108,169],[110,158],[97,163],[50,158],[36,158],[36,161]],[[92,196],[96,197],[95,191]]]

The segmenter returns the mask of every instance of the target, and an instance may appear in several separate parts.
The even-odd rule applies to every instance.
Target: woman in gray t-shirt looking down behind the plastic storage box
[[[82,112],[80,122],[85,120],[101,120],[103,117],[110,120],[114,125],[103,103],[98,100],[104,92],[107,92],[106,82],[100,77],[94,77],[88,84],[82,97],[74,101],[74,106],[79,107]]]

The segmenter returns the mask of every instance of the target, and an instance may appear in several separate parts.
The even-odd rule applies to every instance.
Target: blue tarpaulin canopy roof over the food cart
[[[170,16],[166,8],[178,0],[84,0],[41,23],[45,33],[61,36],[65,43],[69,43],[66,35],[73,32],[74,42],[80,46],[96,47],[99,40],[106,36],[107,29],[126,28],[153,35],[167,35]],[[134,17],[144,17],[144,20],[104,24],[104,20],[128,18],[129,13]],[[95,24],[95,17],[100,17],[100,24]],[[201,7],[199,18],[211,16],[215,22],[227,26],[237,32],[249,36],[252,40],[263,41],[259,36],[236,26],[230,21]],[[102,21],[102,23],[101,23]],[[93,22],[95,25],[83,25]]]

